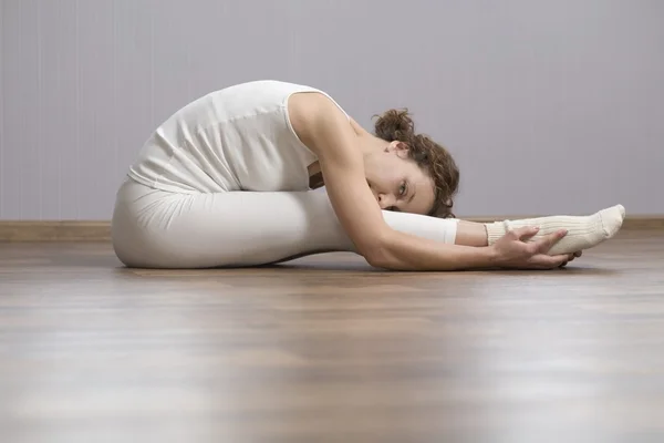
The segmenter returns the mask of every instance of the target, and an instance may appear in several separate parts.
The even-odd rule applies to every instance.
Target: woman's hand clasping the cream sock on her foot
[[[495,262],[502,268],[519,269],[552,269],[566,266],[568,261],[580,257],[581,253],[548,255],[562,237],[567,235],[564,229],[549,234],[533,241],[532,238],[539,228],[522,227],[507,233],[490,247],[494,249]]]

